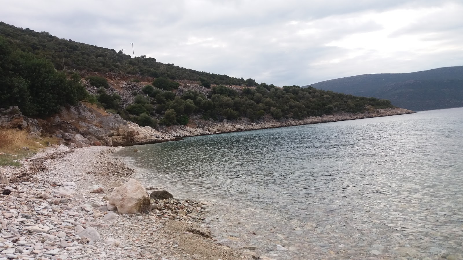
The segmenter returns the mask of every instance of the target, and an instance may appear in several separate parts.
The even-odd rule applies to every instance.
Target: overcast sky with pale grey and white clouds
[[[463,0],[21,0],[0,20],[257,82],[463,65]]]

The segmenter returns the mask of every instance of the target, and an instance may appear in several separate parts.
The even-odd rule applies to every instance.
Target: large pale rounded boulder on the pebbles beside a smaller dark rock
[[[149,211],[151,201],[141,183],[130,179],[124,185],[113,189],[109,196],[109,204],[116,206],[119,214],[134,214]]]

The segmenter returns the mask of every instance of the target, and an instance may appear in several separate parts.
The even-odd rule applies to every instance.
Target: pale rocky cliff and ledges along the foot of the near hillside
[[[218,133],[258,130],[303,124],[317,124],[360,118],[375,118],[413,113],[401,108],[376,109],[363,113],[337,113],[321,117],[308,117],[302,120],[275,120],[263,118],[261,121],[241,119],[237,121],[212,121],[191,118],[188,125],[173,125],[153,129],[149,126],[122,119],[118,114],[106,113],[92,106],[79,104],[63,107],[55,117],[47,120],[25,118],[19,109],[2,111],[0,125],[11,128],[24,128],[38,134],[59,138],[60,142],[75,147],[90,145],[131,146],[180,140],[182,137],[211,135]]]

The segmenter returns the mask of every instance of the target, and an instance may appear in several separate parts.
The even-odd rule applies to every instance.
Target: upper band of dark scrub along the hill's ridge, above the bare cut
[[[121,51],[102,48],[71,39],[58,38],[46,31],[37,32],[29,28],[23,29],[0,22],[0,34],[14,43],[20,50],[33,53],[50,60],[56,69],[87,70],[93,72],[114,72],[140,74],[150,77],[168,79],[184,79],[201,81],[208,84],[242,85],[243,78],[207,73],[174,64],[156,62],[156,59],[139,56],[134,59]],[[255,81],[249,79],[248,84]]]

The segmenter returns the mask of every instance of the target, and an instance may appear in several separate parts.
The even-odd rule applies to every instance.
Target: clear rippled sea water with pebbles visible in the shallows
[[[146,186],[214,203],[205,225],[225,245],[273,259],[463,259],[463,108],[137,149],[118,155]]]

